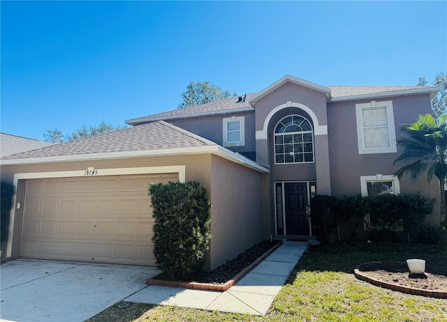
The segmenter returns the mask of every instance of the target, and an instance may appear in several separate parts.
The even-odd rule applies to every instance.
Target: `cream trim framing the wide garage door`
[[[27,179],[91,177],[91,176],[86,176],[85,171],[86,171],[86,169],[73,170],[73,171],[25,172],[25,173],[20,173],[20,174],[14,174],[13,185],[17,188],[17,183],[19,180],[27,180]],[[166,167],[131,167],[131,168],[98,169],[98,173],[95,176],[121,176],[121,175],[129,175],[129,174],[178,174],[179,182],[184,183],[186,180],[186,165],[173,165],[173,166],[166,166]],[[13,195],[13,206],[10,210],[8,243],[6,246],[6,257],[10,257],[12,255],[13,238],[17,237],[17,236],[13,236],[14,224],[16,221],[16,218],[15,218],[15,210],[17,208],[17,200],[16,199],[17,199],[17,191],[15,191],[15,193]],[[21,230],[22,229],[20,228],[20,231]],[[19,241],[22,240],[21,234],[18,237],[19,237]],[[20,243],[21,243],[21,241],[20,241]]]

